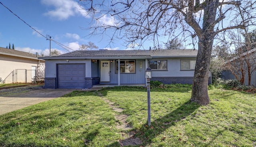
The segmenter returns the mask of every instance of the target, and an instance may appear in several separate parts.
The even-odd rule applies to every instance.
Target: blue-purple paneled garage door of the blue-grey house
[[[58,64],[58,88],[85,88],[85,64]]]

